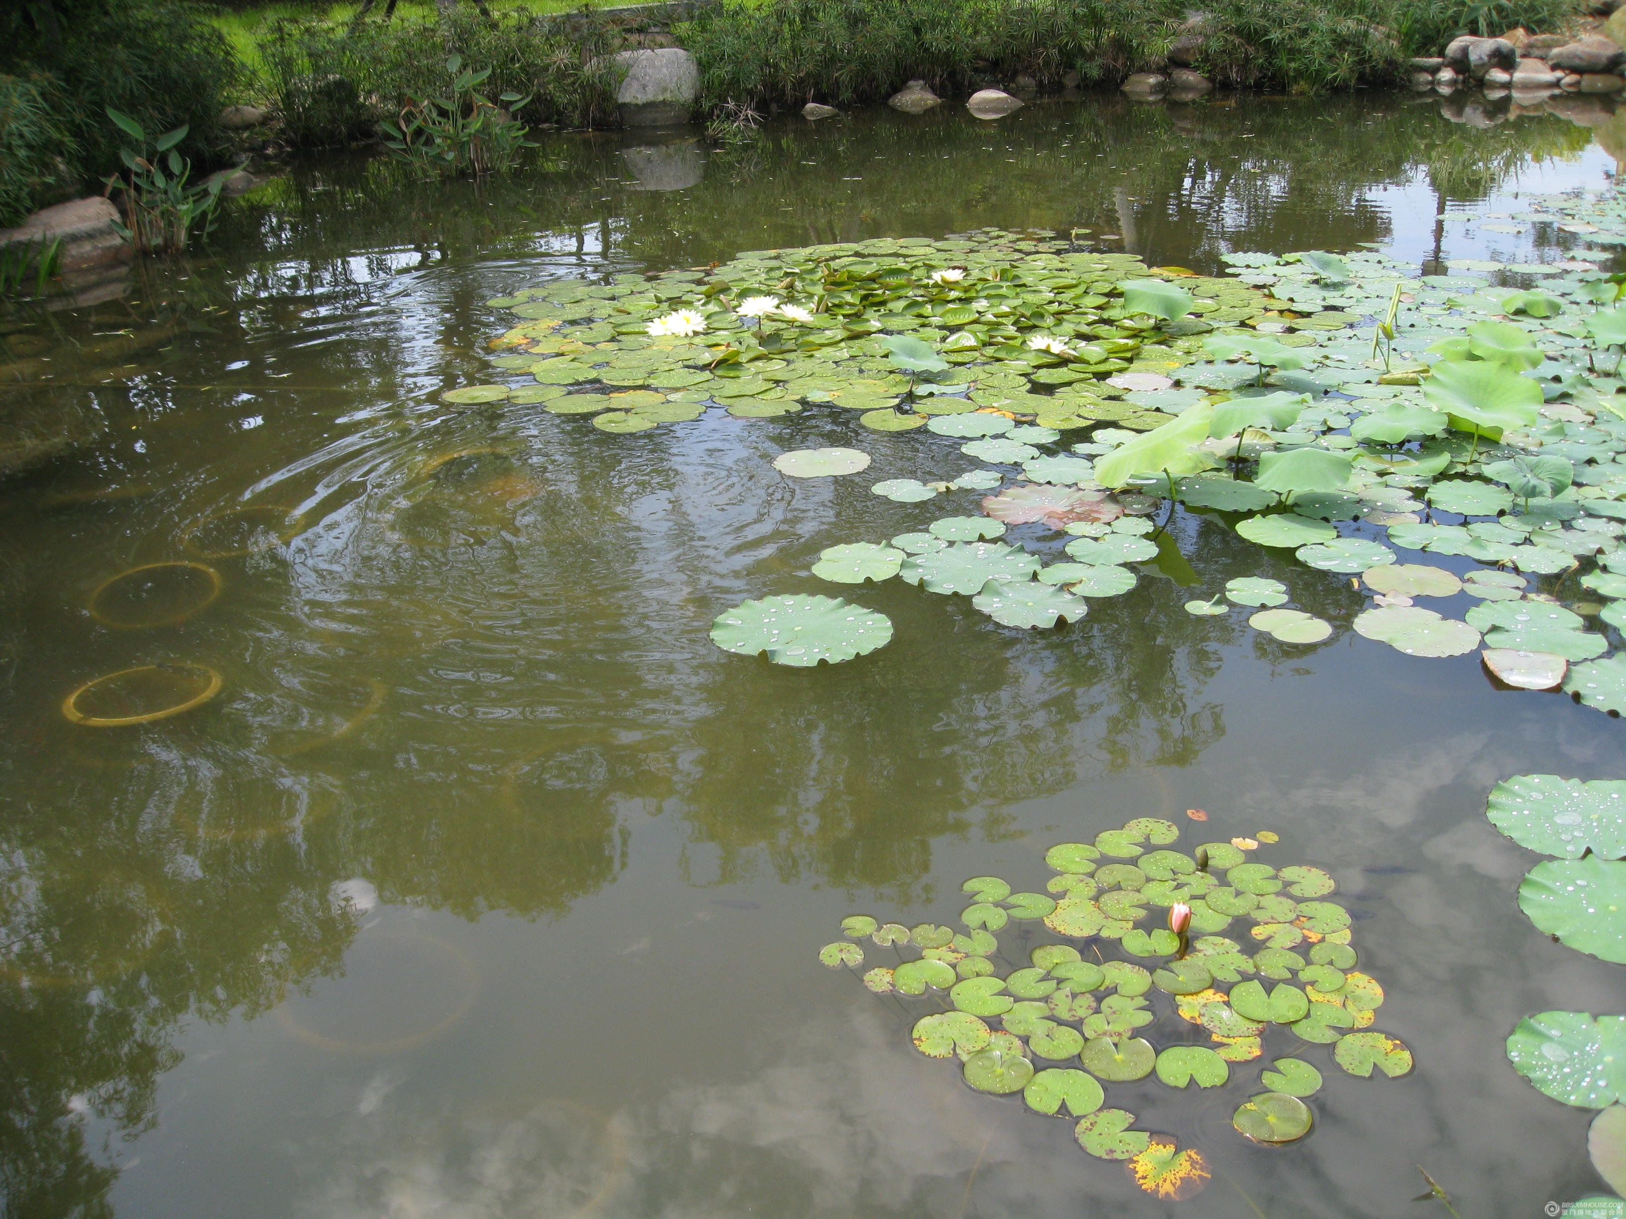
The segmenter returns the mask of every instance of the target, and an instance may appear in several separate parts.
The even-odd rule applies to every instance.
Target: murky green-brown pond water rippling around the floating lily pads
[[[745,151],[554,137],[478,187],[327,159],[233,203],[185,267],[15,314],[7,452],[47,457],[0,483],[8,1212],[1164,1214],[1072,1123],[917,1055],[919,1013],[816,951],[844,915],[951,923],[967,876],[1041,887],[1050,844],[1189,808],[1335,874],[1416,1069],[1328,1069],[1281,1149],[1231,1130],[1231,1091],[1114,1086],[1208,1156],[1187,1206],[1441,1211],[1408,1201],[1415,1165],[1481,1219],[1597,1191],[1590,1113],[1502,1040],[1528,1011],[1618,1008],[1619,974],[1520,915],[1533,857],[1485,798],[1616,775],[1616,720],[1494,689],[1475,655],[1192,618],[1291,564],[1200,517],[1172,527],[1198,590],[1146,567],[1060,631],[813,579],[824,546],[941,505],[772,458],[850,445],[875,478],[951,478],[948,437],[834,410],[606,436],[437,401],[486,379],[493,296],[746,249],[998,226],[1205,273],[1358,242],[1426,270],[1563,260],[1569,234],[1480,223],[1603,187],[1613,120],[1494,117],[1086,98],[776,120]],[[1348,577],[1291,570],[1307,610],[1361,608]],[[818,670],[711,644],[776,592],[847,595],[896,639]],[[140,715],[210,670],[220,691],[146,725],[62,714],[146,665],[193,668],[80,710]]]

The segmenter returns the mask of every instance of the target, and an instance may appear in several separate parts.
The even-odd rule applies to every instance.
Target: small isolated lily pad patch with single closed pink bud
[[[1322,1069],[1301,1056],[1309,1045],[1363,1078],[1403,1076],[1413,1061],[1372,1027],[1384,988],[1359,969],[1327,871],[1260,861],[1268,832],[1189,852],[1179,835],[1135,818],[1057,844],[1042,891],[974,876],[958,925],[850,915],[820,961],[924,1008],[915,1048],[958,1061],[969,1087],[1075,1121],[1086,1152],[1124,1160],[1150,1193],[1187,1198],[1210,1177],[1202,1152],[1138,1130],[1109,1107],[1107,1086],[1236,1084],[1233,1126],[1280,1146],[1314,1126]]]

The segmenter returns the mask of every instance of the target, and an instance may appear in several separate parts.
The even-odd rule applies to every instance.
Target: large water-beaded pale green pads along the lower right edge
[[[1491,790],[1486,816],[1520,847],[1556,857],[1519,886],[1530,922],[1569,948],[1626,964],[1626,782],[1514,775]],[[1554,1100],[1603,1110],[1589,1138],[1592,1162],[1626,1193],[1626,1016],[1525,1016],[1507,1058]]]

